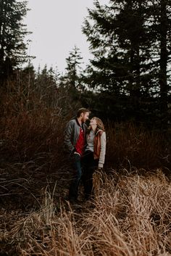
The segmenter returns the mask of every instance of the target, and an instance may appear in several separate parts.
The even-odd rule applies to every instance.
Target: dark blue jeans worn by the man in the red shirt
[[[80,178],[82,175],[81,164],[80,164],[80,155],[73,154],[70,157],[71,165],[72,165],[72,181],[70,183],[69,189],[69,200],[75,201],[78,198],[78,187],[80,184]]]

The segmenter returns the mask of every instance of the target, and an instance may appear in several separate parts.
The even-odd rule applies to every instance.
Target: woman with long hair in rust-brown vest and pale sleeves
[[[83,186],[85,198],[89,199],[93,190],[93,173],[104,166],[106,154],[106,133],[104,124],[98,117],[91,119],[87,132],[87,145],[83,156]]]

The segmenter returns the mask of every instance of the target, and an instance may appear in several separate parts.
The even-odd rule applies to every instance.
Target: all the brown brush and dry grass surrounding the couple
[[[171,255],[169,137],[106,123],[104,173],[94,177],[95,199],[77,210],[64,199],[62,146],[80,103],[66,88],[48,102],[46,91],[20,88],[1,94],[0,255]]]

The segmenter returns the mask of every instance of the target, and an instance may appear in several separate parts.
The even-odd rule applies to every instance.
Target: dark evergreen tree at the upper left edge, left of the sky
[[[7,78],[12,69],[26,60],[28,34],[22,19],[28,9],[27,1],[0,1],[0,78]]]

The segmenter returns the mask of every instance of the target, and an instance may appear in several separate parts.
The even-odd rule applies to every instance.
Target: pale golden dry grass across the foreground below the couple
[[[13,224],[7,241],[18,255],[171,255],[171,186],[162,171],[113,177],[103,175],[99,194],[81,210],[55,212],[49,202],[48,226],[44,203]]]

